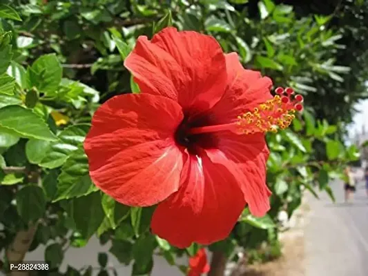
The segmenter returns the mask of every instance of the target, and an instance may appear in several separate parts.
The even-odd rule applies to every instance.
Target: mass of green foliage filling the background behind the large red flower
[[[149,232],[153,208],[128,208],[98,191],[81,147],[100,103],[139,92],[122,64],[135,39],[166,26],[213,35],[244,67],[304,96],[293,126],[267,137],[269,215],[244,210],[230,237],[209,246],[210,275],[222,275],[219,259],[240,262],[240,252],[249,262],[278,257],[280,213],[291,217],[304,191],[333,199],[330,179],[358,159],[343,137],[354,103],[368,97],[367,1],[0,0],[0,17],[3,270],[43,244],[48,275],[114,275],[106,253],[96,253],[100,268],[58,269],[70,246],[97,235],[119,262],[133,263],[132,275],[148,275],[153,255],[186,273],[176,259],[199,246],[174,248]],[[24,237],[30,243],[19,245]]]

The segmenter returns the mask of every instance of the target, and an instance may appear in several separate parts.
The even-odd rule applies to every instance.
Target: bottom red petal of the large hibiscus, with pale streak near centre
[[[211,244],[233,229],[245,201],[236,179],[205,153],[191,155],[182,170],[180,190],[157,206],[151,221],[155,234],[185,248]]]

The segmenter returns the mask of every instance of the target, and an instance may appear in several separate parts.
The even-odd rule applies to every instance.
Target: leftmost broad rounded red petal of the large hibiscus
[[[183,157],[173,135],[183,119],[171,99],[120,95],[95,112],[84,141],[90,177],[129,206],[151,206],[177,191]]]

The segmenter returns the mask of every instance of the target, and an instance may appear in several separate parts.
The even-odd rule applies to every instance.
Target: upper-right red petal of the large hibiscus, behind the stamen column
[[[246,70],[235,52],[225,55],[227,70],[226,91],[220,101],[210,110],[213,124],[236,121],[239,115],[272,99],[272,81],[260,72]]]

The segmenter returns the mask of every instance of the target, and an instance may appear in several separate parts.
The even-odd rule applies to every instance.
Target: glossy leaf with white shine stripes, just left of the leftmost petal
[[[45,168],[57,168],[65,163],[75,150],[83,143],[90,126],[77,124],[62,130],[57,137],[58,141],[51,144],[46,157],[39,166]]]

